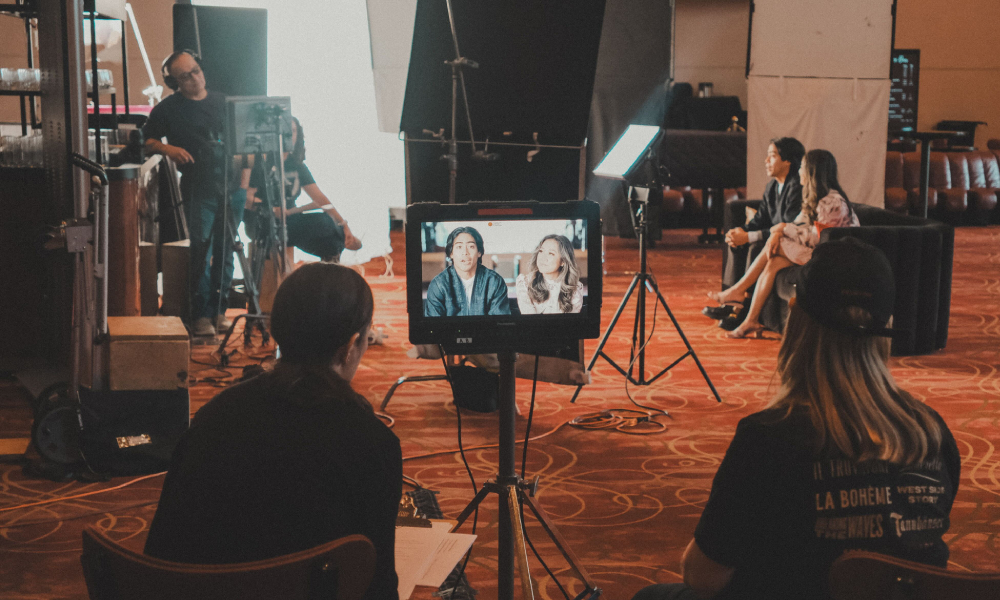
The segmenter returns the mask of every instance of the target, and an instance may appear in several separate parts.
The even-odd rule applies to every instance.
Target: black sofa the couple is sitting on
[[[759,204],[760,200],[727,203],[725,228],[745,222],[746,208],[756,208]],[[951,311],[954,228],[874,206],[855,204],[854,208],[861,227],[825,229],[820,243],[852,236],[879,248],[888,257],[896,278],[893,326],[908,332],[893,340],[893,355],[928,354],[944,348]],[[761,323],[768,329],[778,332],[784,329],[798,271],[799,267],[790,267],[778,274],[761,313]]]

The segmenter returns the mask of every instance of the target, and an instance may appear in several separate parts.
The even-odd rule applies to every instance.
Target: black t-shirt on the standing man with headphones
[[[166,137],[171,146],[187,150],[194,162],[179,168],[185,177],[197,180],[192,183],[221,180],[224,152],[215,142],[222,137],[225,115],[223,94],[208,92],[202,100],[190,100],[177,92],[153,107],[142,134],[147,140]]]

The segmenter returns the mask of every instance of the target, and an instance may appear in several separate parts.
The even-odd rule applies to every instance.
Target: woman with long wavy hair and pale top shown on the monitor
[[[523,315],[578,313],[583,308],[583,284],[573,244],[563,235],[542,238],[517,276],[517,307]]]

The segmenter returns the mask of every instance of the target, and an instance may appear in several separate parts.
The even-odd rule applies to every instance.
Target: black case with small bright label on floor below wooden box
[[[190,422],[187,388],[94,392],[81,389],[83,452],[98,473],[165,471]]]

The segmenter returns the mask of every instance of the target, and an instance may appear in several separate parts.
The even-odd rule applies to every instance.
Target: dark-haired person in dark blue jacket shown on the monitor
[[[483,236],[474,227],[456,227],[448,234],[444,254],[449,265],[427,287],[425,316],[510,314],[507,283],[483,266],[485,252]]]

